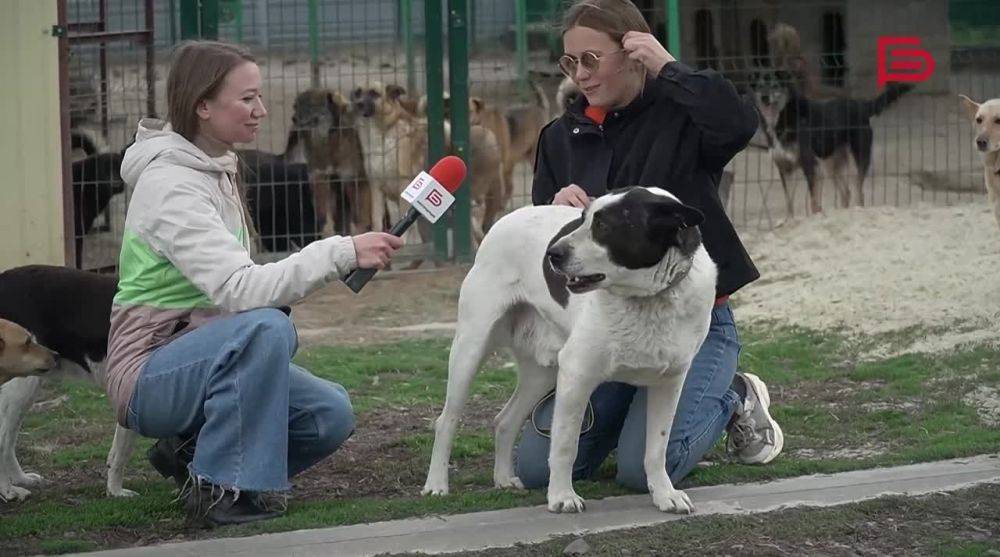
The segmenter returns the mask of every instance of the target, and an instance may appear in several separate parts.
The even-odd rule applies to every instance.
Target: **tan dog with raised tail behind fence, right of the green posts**
[[[536,83],[531,90],[535,102],[509,107],[492,106],[479,97],[470,99],[469,123],[489,128],[497,138],[503,160],[503,205],[514,189],[514,167],[519,162],[535,164],[535,148],[542,128],[549,122],[549,100]]]

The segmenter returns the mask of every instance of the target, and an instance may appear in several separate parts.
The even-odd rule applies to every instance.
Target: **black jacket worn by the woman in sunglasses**
[[[757,111],[712,70],[666,64],[642,95],[607,114],[603,125],[584,116],[580,98],[542,129],[531,197],[552,202],[577,184],[591,197],[624,186],[657,186],[705,214],[705,249],[719,268],[718,294],[760,277],[719,200],[722,169],[757,129]]]

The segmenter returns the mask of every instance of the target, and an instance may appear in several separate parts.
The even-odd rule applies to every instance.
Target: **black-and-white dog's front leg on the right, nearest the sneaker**
[[[667,442],[677,412],[685,373],[675,373],[665,382],[648,388],[646,403],[646,486],[661,511],[687,514],[694,507],[687,494],[674,489],[667,475]]]

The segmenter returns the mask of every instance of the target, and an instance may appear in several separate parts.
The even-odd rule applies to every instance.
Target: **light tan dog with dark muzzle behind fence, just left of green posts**
[[[351,92],[350,114],[358,130],[365,173],[371,190],[371,222],[376,230],[391,226],[405,210],[400,194],[424,170],[427,159],[427,121],[400,103],[406,90],[398,85],[371,83]],[[416,230],[404,234],[417,240]]]

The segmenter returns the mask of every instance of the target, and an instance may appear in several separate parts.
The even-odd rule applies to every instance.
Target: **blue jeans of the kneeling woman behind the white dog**
[[[736,375],[740,339],[729,304],[712,310],[712,323],[701,350],[691,363],[667,444],[667,474],[677,484],[701,457],[722,438],[740,402],[730,389]],[[626,383],[602,383],[590,397],[593,425],[580,435],[573,464],[573,479],[591,477],[604,459],[618,448],[615,480],[631,489],[646,491],[643,460],[646,449],[646,389]],[[536,409],[535,425],[552,428],[554,399]],[[588,410],[589,413],[589,410]],[[585,423],[589,422],[589,416]],[[549,483],[549,438],[531,420],[525,424],[517,448],[517,476],[525,487]]]

